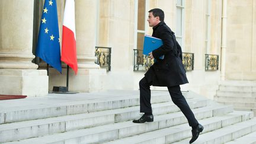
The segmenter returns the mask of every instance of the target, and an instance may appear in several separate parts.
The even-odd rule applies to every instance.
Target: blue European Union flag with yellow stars
[[[60,73],[62,72],[56,0],[46,0],[44,2],[36,56],[43,59],[44,62],[57,69]]]

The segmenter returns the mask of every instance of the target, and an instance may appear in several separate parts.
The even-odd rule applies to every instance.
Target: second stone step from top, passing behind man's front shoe
[[[207,100],[204,98],[188,99],[187,102],[191,108],[206,107],[207,105]],[[0,142],[27,139],[30,137],[51,135],[53,133],[68,132],[75,129],[133,120],[139,116],[139,109],[139,106],[135,106],[97,111],[93,113],[0,124]],[[152,104],[152,110],[155,114],[166,114],[180,111],[180,109],[172,102]],[[227,113],[232,111],[232,107],[229,107],[228,110],[229,111],[227,111]],[[213,110],[213,112],[215,112],[215,114],[220,113],[217,110]],[[14,135],[15,138],[13,137]]]

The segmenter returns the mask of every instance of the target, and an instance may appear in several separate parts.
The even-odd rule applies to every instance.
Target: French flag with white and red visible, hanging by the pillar
[[[76,59],[75,1],[66,0],[62,27],[62,62],[78,71]]]

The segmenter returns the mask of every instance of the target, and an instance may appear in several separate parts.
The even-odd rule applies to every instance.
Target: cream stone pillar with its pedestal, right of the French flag
[[[95,43],[97,37],[98,1],[75,1],[76,53],[78,73],[69,71],[69,91],[91,92],[103,89],[105,69],[95,64]],[[62,75],[50,73],[50,89],[53,86],[66,86],[66,68]]]

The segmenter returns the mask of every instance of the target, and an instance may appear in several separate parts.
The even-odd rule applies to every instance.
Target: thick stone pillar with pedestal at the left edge
[[[34,1],[0,1],[0,9],[0,94],[47,95],[47,72],[31,62]]]

